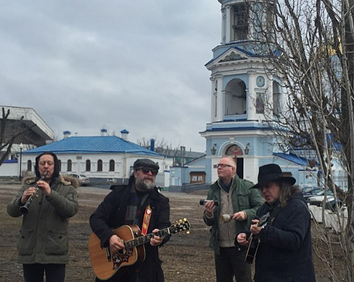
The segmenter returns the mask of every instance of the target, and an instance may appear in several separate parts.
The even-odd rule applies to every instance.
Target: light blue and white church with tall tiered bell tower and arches
[[[294,151],[281,151],[274,132],[265,122],[277,116],[285,104],[286,92],[276,71],[265,67],[260,29],[272,14],[262,14],[257,1],[218,0],[221,3],[221,44],[206,64],[211,72],[210,121],[200,132],[206,138],[206,155],[184,167],[171,167],[170,185],[217,180],[216,164],[223,156],[237,157],[237,175],[257,183],[259,166],[277,163],[285,175],[300,186],[317,186],[316,171]],[[266,4],[266,2],[265,2]],[[259,24],[258,24],[259,25]],[[194,180],[194,181],[193,181]]]

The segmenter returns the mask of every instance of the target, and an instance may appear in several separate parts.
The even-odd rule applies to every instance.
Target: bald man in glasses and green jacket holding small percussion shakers
[[[236,235],[251,225],[262,197],[254,184],[238,178],[236,158],[223,157],[217,164],[219,179],[208,191],[204,221],[211,226],[210,247],[215,253],[217,282],[251,282],[251,265],[245,249],[235,248]],[[216,205],[216,201],[218,205]],[[223,217],[223,215],[226,215]]]

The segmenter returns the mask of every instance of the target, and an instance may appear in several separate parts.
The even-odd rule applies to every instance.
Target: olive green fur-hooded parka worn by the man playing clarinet
[[[14,218],[22,216],[21,197],[37,179],[24,179],[24,185],[7,205],[7,213]],[[24,215],[17,245],[17,262],[22,264],[66,264],[68,257],[68,223],[79,208],[77,180],[59,176],[51,185],[52,192],[46,197],[39,189]]]

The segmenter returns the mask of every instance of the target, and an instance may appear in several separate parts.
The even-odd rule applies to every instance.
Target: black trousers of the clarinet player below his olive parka
[[[46,282],[64,282],[65,264],[24,264],[25,282],[43,282],[44,272]]]

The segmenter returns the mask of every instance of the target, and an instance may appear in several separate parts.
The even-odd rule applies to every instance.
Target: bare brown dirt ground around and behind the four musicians
[[[22,282],[22,265],[16,263],[17,240],[22,217],[14,219],[7,215],[6,206],[17,193],[19,185],[0,185],[0,282]],[[88,238],[91,233],[89,216],[109,192],[108,189],[78,188],[79,212],[69,222],[70,262],[66,268],[67,282],[94,281],[89,260]],[[214,256],[208,247],[209,231],[202,217],[204,207],[199,200],[207,191],[196,194],[162,191],[170,198],[171,221],[186,218],[191,224],[190,234],[172,235],[160,249],[166,282],[214,282]],[[317,281],[327,281],[326,269],[314,255]]]

